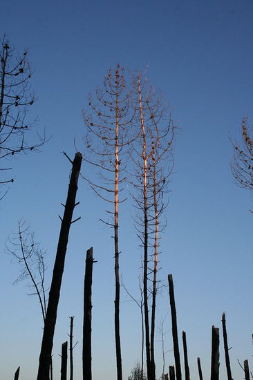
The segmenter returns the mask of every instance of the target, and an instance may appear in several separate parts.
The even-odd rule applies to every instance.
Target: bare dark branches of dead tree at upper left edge
[[[39,137],[35,144],[26,142],[28,131],[35,122],[27,122],[28,108],[35,102],[30,90],[32,72],[27,59],[28,51],[22,55],[15,52],[4,36],[0,41],[0,159],[12,158],[19,153],[36,151],[44,144],[45,138]],[[11,168],[1,167],[0,171]],[[13,182],[13,178],[0,178],[0,184]]]

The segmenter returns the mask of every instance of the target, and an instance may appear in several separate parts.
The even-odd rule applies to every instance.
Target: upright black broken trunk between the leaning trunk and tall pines
[[[82,344],[82,374],[83,380],[91,380],[91,287],[93,272],[93,247],[86,252],[84,276],[84,327]]]

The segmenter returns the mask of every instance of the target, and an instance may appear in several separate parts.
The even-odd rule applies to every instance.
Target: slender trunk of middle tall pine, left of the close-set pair
[[[140,87],[140,75],[138,73],[138,93],[140,107],[140,122],[142,126],[142,160],[143,160],[143,196],[144,196],[144,268],[143,268],[143,298],[144,298],[144,323],[145,323],[145,343],[147,359],[147,378],[154,380],[152,377],[150,343],[149,343],[149,305],[148,305],[148,210],[147,210],[147,152],[146,152],[146,133],[144,128],[144,119],[142,113],[142,95]]]

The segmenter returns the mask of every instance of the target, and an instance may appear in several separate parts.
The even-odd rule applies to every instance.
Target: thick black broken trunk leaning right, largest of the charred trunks
[[[62,218],[61,230],[53,269],[53,278],[51,282],[48,307],[46,310],[46,319],[44,325],[43,338],[41,343],[41,352],[39,355],[39,370],[37,380],[49,379],[49,368],[53,348],[53,336],[55,334],[55,323],[57,319],[57,307],[59,303],[60,289],[62,285],[62,275],[64,272],[64,263],[66,249],[68,245],[68,234],[71,227],[73,210],[75,208],[75,197],[77,194],[77,182],[79,171],[82,164],[82,154],[76,153],[72,162],[71,180],[68,186],[68,196]]]

